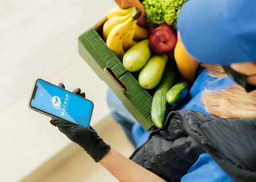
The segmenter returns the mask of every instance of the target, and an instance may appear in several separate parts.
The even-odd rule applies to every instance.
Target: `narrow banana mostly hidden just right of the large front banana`
[[[123,48],[127,51],[131,46],[133,46],[133,35],[135,33],[135,27],[138,20],[133,20],[129,25],[126,33],[124,34]]]

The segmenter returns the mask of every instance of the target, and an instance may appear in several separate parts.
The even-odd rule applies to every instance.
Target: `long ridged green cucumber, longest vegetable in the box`
[[[161,128],[168,113],[166,93],[175,84],[177,66],[175,61],[169,61],[164,70],[163,77],[153,95],[151,118],[156,127]]]

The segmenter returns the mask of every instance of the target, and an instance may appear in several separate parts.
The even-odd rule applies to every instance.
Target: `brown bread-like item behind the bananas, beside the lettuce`
[[[137,7],[141,10],[141,17],[139,17],[137,24],[142,27],[148,27],[146,24],[146,13],[143,4],[139,0],[115,0],[116,4],[121,9],[128,9],[131,7]]]

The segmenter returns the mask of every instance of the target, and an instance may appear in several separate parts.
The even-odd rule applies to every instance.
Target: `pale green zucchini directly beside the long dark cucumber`
[[[153,55],[139,72],[139,84],[145,89],[153,89],[161,81],[168,55]]]

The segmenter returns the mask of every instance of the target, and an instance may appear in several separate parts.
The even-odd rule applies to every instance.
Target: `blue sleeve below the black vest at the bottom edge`
[[[198,160],[190,167],[181,182],[234,182],[221,167],[209,156],[202,153]]]

